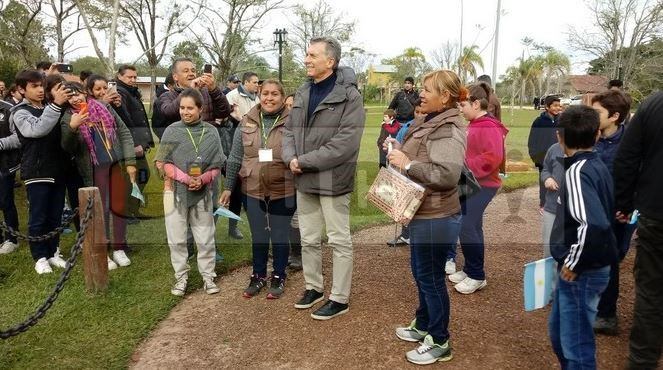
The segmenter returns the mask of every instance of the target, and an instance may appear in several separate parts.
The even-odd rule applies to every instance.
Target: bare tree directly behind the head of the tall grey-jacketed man
[[[310,8],[295,6],[295,18],[291,21],[292,44],[295,55],[304,60],[309,41],[316,36],[329,36],[340,43],[350,40],[356,21],[348,20],[345,13],[336,13],[325,0],[318,0]]]

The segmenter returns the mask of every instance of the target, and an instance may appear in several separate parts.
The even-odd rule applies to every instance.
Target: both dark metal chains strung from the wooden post
[[[85,207],[85,215],[81,219],[81,229],[78,232],[78,235],[76,237],[76,242],[74,245],[71,247],[71,255],[69,259],[67,260],[67,266],[65,267],[64,271],[62,271],[62,274],[60,274],[60,278],[58,279],[57,283],[55,283],[55,287],[51,291],[51,294],[46,298],[44,303],[37,308],[37,310],[30,315],[25,321],[21,322],[20,324],[17,324],[7,330],[0,330],[0,339],[9,339],[11,337],[17,336],[31,327],[35,326],[38,322],[39,319],[44,317],[46,315],[46,312],[53,306],[53,303],[55,303],[55,300],[58,298],[58,295],[64,288],[67,280],[69,279],[69,275],[71,274],[71,271],[73,270],[74,266],[76,265],[76,258],[78,255],[81,253],[81,250],[83,249],[83,240],[85,239],[85,231],[87,230],[88,227],[88,221],[90,220],[90,217],[92,216],[92,209],[94,208],[94,197],[88,198],[87,206]],[[7,230],[12,235],[16,236],[17,238],[28,240],[28,241],[33,241],[33,242],[41,242],[41,241],[46,241],[49,239],[54,238],[56,235],[62,232],[64,230],[65,225],[67,225],[71,219],[74,218],[76,215],[77,210],[75,210],[72,214],[72,216],[69,218],[69,220],[65,220],[66,222],[63,222],[63,226],[53,230],[52,232],[49,232],[47,234],[44,234],[42,236],[37,236],[37,237],[32,237],[28,235],[23,235],[20,234],[16,231],[14,231],[11,227],[8,227],[5,225],[3,222],[0,224],[0,228],[3,230]],[[59,232],[56,232],[58,231]]]

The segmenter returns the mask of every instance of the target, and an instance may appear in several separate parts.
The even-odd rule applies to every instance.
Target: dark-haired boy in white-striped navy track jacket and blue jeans
[[[599,137],[594,109],[569,107],[559,129],[565,176],[551,235],[550,251],[560,271],[549,317],[550,341],[562,369],[594,369],[592,325],[610,266],[617,260],[613,182],[593,151]]]

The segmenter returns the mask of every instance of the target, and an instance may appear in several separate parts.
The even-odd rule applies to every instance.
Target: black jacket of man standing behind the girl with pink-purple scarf
[[[153,147],[154,139],[152,139],[152,133],[150,132],[149,121],[140,95],[140,90],[138,90],[137,87],[129,86],[120,80],[116,81],[117,92],[122,97],[121,108],[126,111],[124,114],[120,114],[120,112],[118,112],[118,114],[129,131],[131,131],[134,145],[140,145],[143,149]],[[123,117],[125,114],[127,117]]]

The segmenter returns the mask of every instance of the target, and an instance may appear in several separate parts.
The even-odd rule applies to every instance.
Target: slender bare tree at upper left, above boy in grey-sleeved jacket
[[[78,8],[72,0],[48,0],[50,11],[45,12],[48,18],[53,19],[52,32],[55,34],[57,61],[63,62],[67,54],[85,46],[75,46],[70,42],[78,32],[85,30]]]

